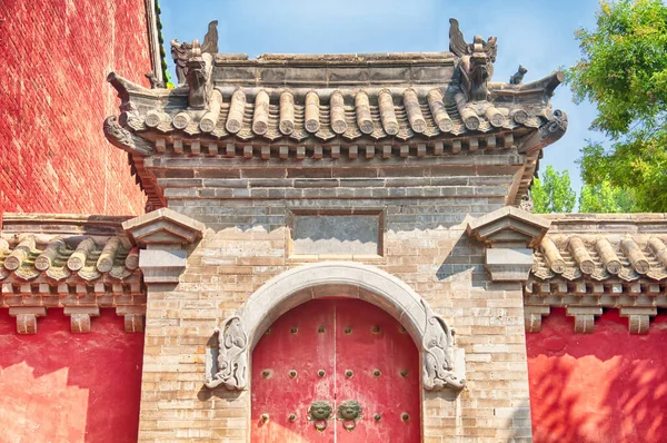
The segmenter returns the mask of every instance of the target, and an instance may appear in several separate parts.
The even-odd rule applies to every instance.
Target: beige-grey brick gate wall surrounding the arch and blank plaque
[[[484,245],[466,234],[470,217],[505,205],[512,175],[492,176],[487,169],[485,180],[480,168],[478,175],[449,177],[451,181],[444,185],[447,177],[434,177],[431,169],[422,168],[420,177],[410,174],[411,181],[400,189],[407,193],[402,197],[371,198],[391,193],[386,186],[388,173],[367,168],[364,174],[374,177],[359,177],[361,170],[352,173],[350,168],[348,174],[357,177],[350,189],[342,190],[349,197],[336,198],[328,193],[340,193],[340,181],[331,187],[318,185],[346,169],[317,173],[302,168],[301,177],[286,181],[289,187],[283,189],[282,196],[300,193],[295,198],[267,198],[270,189],[253,194],[259,179],[247,179],[238,188],[221,189],[230,193],[226,199],[205,199],[198,198],[207,193],[203,174],[216,174],[215,180],[222,184],[229,179],[240,183],[252,174],[288,180],[297,169],[187,170],[185,160],[162,161],[183,161],[182,170],[158,171],[167,180],[162,185],[170,185],[166,190],[169,207],[203,223],[207,229],[203,238],[188,248],[179,283],[150,284],[148,288],[140,441],[248,441],[250,392],[231,393],[222,387],[211,392],[202,383],[213,328],[271,277],[307,263],[332,259],[372,265],[398,277],[456,329],[457,346],[466,352],[467,387],[458,395],[415,393],[424,397],[425,442],[530,439],[521,285],[490,282]],[[406,168],[394,170],[407,174]],[[221,178],[222,174],[232,177]],[[309,187],[298,188],[295,180],[306,183],[307,174],[328,177],[311,178]],[[178,175],[186,177],[177,179]],[[441,183],[434,181],[436,178]],[[384,181],[385,186],[376,186],[381,189],[378,191],[366,180]],[[185,183],[188,188],[179,188]],[[235,194],[239,189],[242,195]],[[306,198],[316,191],[321,193],[319,198]],[[215,195],[216,189],[210,193]],[[259,197],[261,193],[265,198]],[[293,214],[315,208],[320,214],[381,211],[381,254],[290,255]]]

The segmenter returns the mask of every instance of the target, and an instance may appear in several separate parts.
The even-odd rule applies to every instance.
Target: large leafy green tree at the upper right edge
[[[583,57],[568,82],[577,102],[597,107],[591,128],[610,139],[581,149],[586,191],[606,183],[626,189],[636,210],[667,211],[667,6],[601,1],[596,29],[576,37]]]

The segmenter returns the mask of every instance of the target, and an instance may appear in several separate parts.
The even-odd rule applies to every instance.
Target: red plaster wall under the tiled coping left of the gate
[[[2,442],[136,442],[143,334],[101,309],[90,334],[72,334],[62,309],[16,334],[0,309]]]

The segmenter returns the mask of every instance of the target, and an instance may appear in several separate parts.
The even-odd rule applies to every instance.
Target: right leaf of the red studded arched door
[[[338,421],[337,442],[419,442],[418,362],[412,338],[392,316],[361,301],[337,301],[336,400],[362,408],[354,430]]]

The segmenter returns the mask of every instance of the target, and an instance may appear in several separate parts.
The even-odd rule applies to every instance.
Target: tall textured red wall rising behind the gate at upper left
[[[0,214],[138,215],[109,71],[149,86],[145,0],[0,0]]]

